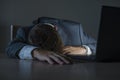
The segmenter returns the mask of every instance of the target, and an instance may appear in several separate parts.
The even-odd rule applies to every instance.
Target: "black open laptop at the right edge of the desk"
[[[97,39],[97,62],[120,62],[120,8],[102,6]]]

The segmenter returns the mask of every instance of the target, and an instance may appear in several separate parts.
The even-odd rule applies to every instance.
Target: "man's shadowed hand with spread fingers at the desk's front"
[[[33,57],[40,60],[40,61],[46,61],[49,64],[69,64],[70,62],[62,57],[59,54],[56,54],[52,51],[47,51],[47,50],[41,50],[41,49],[35,49],[32,52]]]

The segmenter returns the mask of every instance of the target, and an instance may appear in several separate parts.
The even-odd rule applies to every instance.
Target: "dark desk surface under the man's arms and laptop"
[[[118,80],[120,63],[49,65],[0,54],[0,80]]]

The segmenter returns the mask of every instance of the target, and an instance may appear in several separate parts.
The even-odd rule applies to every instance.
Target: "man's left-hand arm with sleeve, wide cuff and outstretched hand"
[[[49,64],[69,64],[70,62],[65,59],[62,54],[59,55],[52,51],[42,50],[36,46],[28,44],[25,38],[26,34],[23,29],[19,29],[16,38],[10,42],[6,48],[6,53],[9,57],[19,59],[38,59],[39,61],[45,61]]]

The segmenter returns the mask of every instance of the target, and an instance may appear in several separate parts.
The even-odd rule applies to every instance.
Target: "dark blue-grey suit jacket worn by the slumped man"
[[[32,26],[21,27],[17,31],[16,38],[11,41],[6,48],[6,53],[8,56],[17,58],[19,51],[24,46],[30,45],[28,43],[29,31],[35,24],[38,23],[51,23],[57,26],[58,33],[62,38],[64,45],[87,45],[91,48],[93,55],[95,55],[96,40],[94,40],[92,37],[90,37],[90,35],[86,34],[83,31],[82,25],[80,23],[58,18],[40,17],[37,20],[33,21]]]

